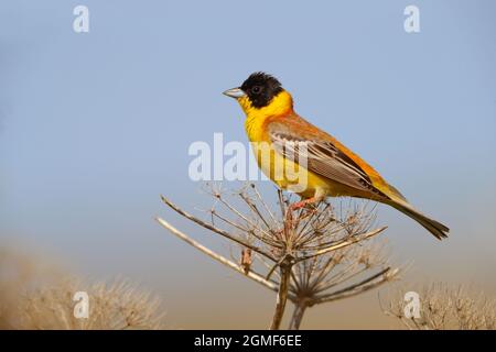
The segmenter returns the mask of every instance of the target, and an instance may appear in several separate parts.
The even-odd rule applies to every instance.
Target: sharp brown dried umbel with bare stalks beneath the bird
[[[165,197],[162,200],[181,216],[240,245],[240,260],[227,260],[165,220],[158,221],[211,257],[277,292],[272,329],[280,328],[287,299],[296,307],[290,327],[298,329],[308,307],[357,295],[398,274],[368,241],[385,228],[370,229],[375,217],[367,204],[341,201],[333,207],[321,202],[292,212],[291,195],[278,190],[277,205],[271,207],[252,184],[237,191],[214,186],[208,193],[214,198],[208,221]]]

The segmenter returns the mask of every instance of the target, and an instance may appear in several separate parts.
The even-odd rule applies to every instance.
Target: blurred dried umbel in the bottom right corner
[[[405,293],[417,293],[418,316],[407,315]],[[496,300],[464,287],[432,284],[419,290],[401,289],[391,295],[386,315],[399,319],[412,330],[495,330]],[[382,304],[384,306],[384,304]]]

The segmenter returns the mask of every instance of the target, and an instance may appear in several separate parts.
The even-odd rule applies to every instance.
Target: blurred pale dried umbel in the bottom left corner
[[[74,294],[89,297],[87,318],[74,314]],[[160,329],[160,304],[127,280],[85,284],[67,279],[55,287],[37,289],[22,307],[23,329],[125,330]]]

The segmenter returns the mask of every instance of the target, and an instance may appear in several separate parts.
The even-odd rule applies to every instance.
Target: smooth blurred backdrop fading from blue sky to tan
[[[73,31],[78,4],[89,33]],[[403,29],[410,4],[420,33]],[[439,242],[378,208],[393,262],[412,263],[405,282],[494,296],[495,10],[490,0],[2,1],[0,245],[84,277],[129,277],[161,297],[169,328],[266,328],[272,293],[153,220],[226,249],[159,196],[209,205],[188,178],[187,148],[215,132],[246,142],[242,112],[222,91],[263,70],[301,116],[451,228]],[[374,292],[311,309],[302,328],[393,326]]]

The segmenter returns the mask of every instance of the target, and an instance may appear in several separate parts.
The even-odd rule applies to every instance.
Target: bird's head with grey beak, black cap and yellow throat
[[[240,87],[228,89],[224,95],[235,98],[247,116],[282,113],[293,107],[291,95],[276,77],[265,73],[251,74]]]

